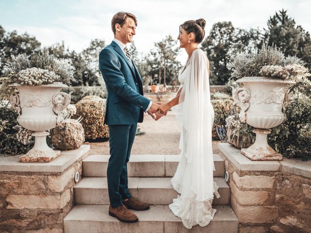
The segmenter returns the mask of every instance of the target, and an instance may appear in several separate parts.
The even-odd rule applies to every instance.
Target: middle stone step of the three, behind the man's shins
[[[171,204],[178,193],[173,189],[170,177],[139,178],[130,177],[128,188],[131,195],[143,202],[156,205]],[[220,198],[213,199],[215,205],[229,204],[230,187],[224,178],[215,177],[219,186]],[[105,177],[85,177],[74,186],[74,199],[77,205],[109,204],[107,179]]]

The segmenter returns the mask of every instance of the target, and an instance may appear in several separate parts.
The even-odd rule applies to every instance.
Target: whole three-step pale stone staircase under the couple
[[[214,154],[214,181],[221,196],[213,200],[217,212],[206,226],[187,230],[168,205],[177,192],[171,178],[178,155],[131,155],[128,163],[128,187],[131,195],[149,203],[147,211],[133,211],[137,223],[123,223],[108,215],[106,168],[109,155],[90,155],[83,160],[84,178],[74,187],[75,206],[64,218],[65,233],[238,233],[239,220],[231,207],[230,188],[225,182],[225,164]]]

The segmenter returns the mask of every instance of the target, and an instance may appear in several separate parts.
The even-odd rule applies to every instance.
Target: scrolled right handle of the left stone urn
[[[70,104],[70,100],[71,100],[71,93],[72,91],[70,91],[69,93],[65,93],[65,92],[58,92],[55,93],[52,97],[52,102],[53,102],[53,111],[54,113],[57,115],[57,125],[62,123],[64,118],[62,116],[62,111],[64,109],[67,109],[69,104]]]

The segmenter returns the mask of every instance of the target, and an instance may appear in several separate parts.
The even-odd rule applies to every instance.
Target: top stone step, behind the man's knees
[[[89,155],[83,160],[84,177],[106,177],[110,155]],[[173,177],[179,155],[131,155],[127,166],[128,177]],[[225,176],[225,162],[214,154],[214,177]]]

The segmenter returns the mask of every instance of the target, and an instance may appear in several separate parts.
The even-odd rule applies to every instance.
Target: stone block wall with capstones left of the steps
[[[0,232],[63,233],[73,206],[74,176],[82,174],[89,145],[61,151],[50,163],[20,163],[0,155]]]

